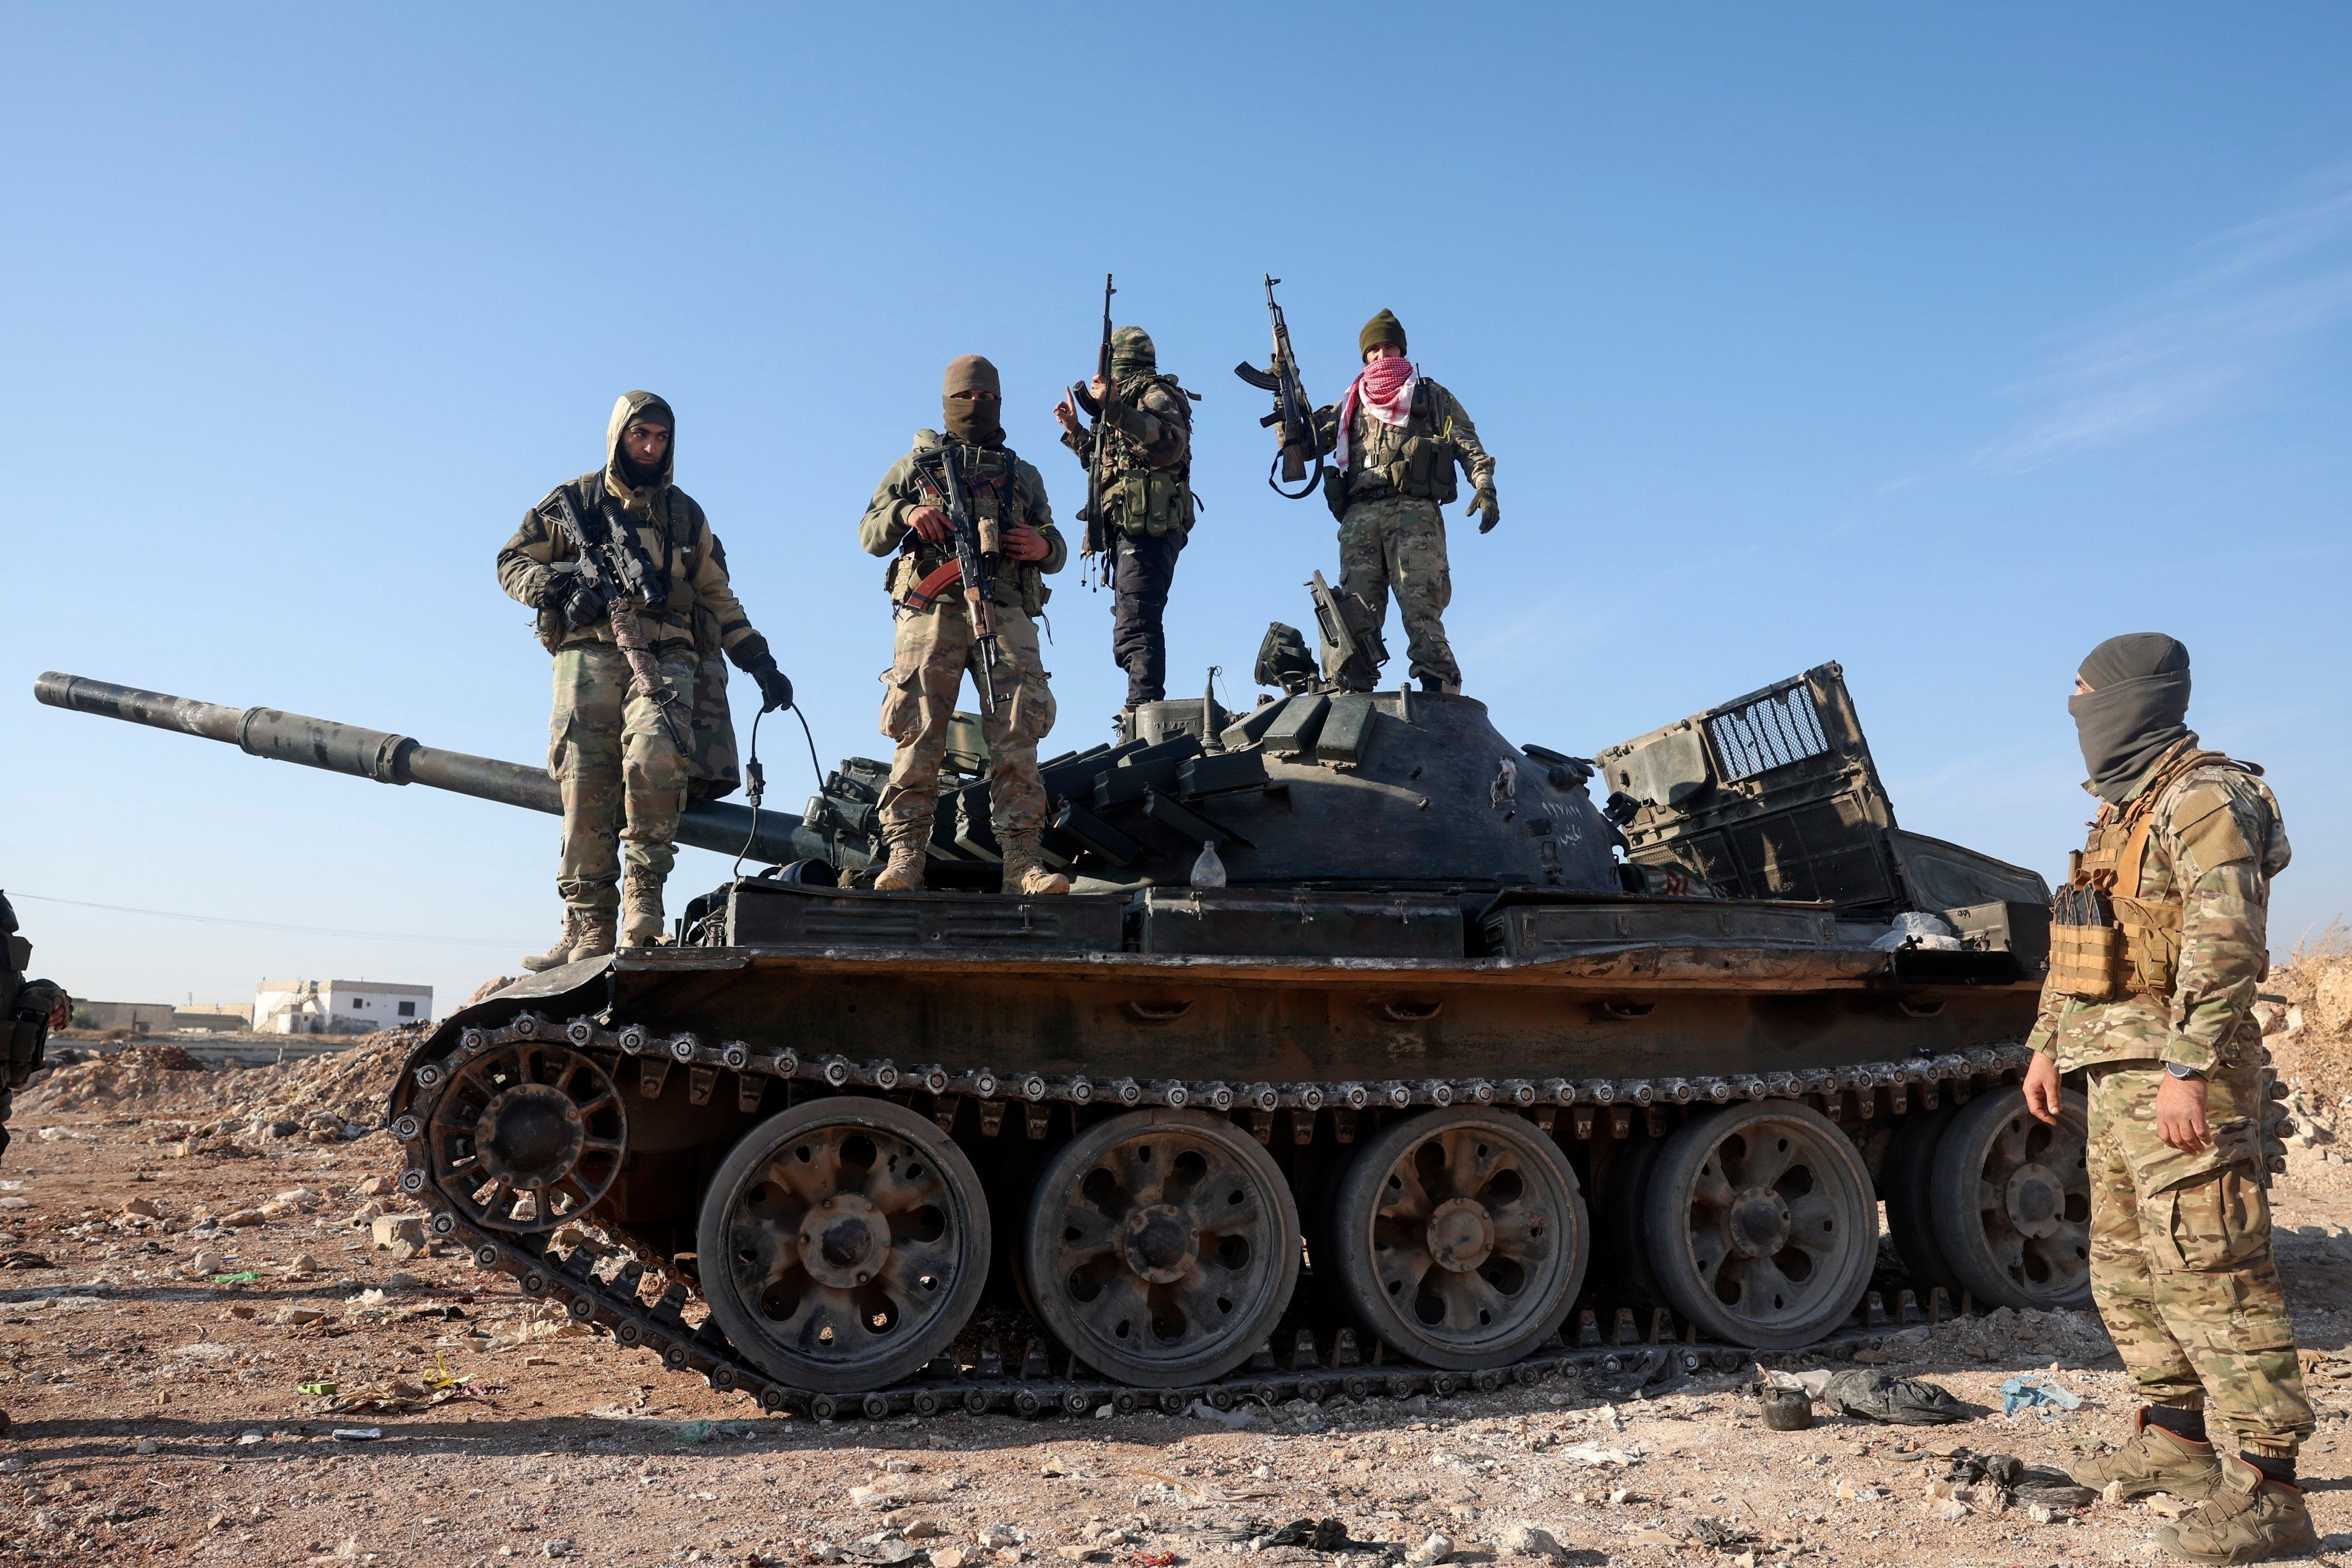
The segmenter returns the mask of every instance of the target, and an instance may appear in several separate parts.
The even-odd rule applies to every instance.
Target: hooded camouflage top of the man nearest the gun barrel
[[[647,411],[659,411],[670,421],[670,451],[654,480],[630,487],[621,456],[621,430]],[[731,649],[753,635],[750,616],[743,614],[743,604],[727,583],[727,555],[710,531],[710,520],[703,517],[703,508],[694,496],[670,482],[675,473],[677,416],[670,411],[670,404],[652,393],[623,393],[612,404],[612,421],[604,428],[604,468],[583,473],[557,489],[569,496],[572,510],[581,515],[602,508],[609,498],[619,503],[621,515],[635,527],[637,548],[654,562],[659,578],[668,583],[661,607],[637,616],[640,630],[654,651],[694,646],[696,609],[717,621],[717,642],[722,649]],[[524,512],[522,527],[499,550],[499,588],[539,611],[539,639],[548,651],[583,642],[612,642],[612,625],[607,621],[597,618],[588,625],[564,628],[560,616],[548,609],[548,590],[560,588],[579,559],[579,543],[548,517],[553,501],[555,496],[550,494]]]

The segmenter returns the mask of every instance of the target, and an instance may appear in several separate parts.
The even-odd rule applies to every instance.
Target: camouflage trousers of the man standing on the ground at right
[[[2154,1063],[2100,1063],[2091,1088],[2091,1300],[2140,1396],[2206,1410],[2239,1448],[2293,1455],[2312,1432],[2296,1331],[2270,1258],[2260,1070],[2211,1077],[2213,1145],[2157,1138]]]

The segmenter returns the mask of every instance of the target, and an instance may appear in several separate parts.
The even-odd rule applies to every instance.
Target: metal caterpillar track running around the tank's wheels
[[[1143,1408],[1183,1413],[1192,1401],[1216,1410],[1230,1410],[1242,1401],[1265,1406],[1305,1399],[1390,1396],[1414,1394],[1449,1396],[1458,1392],[1491,1392],[1503,1385],[1531,1387],[1548,1378],[1632,1378],[1635,1385],[1675,1373],[1703,1368],[1736,1368],[1755,1352],[1698,1342],[1661,1342],[1661,1331],[1670,1333],[1670,1319],[1661,1309],[1651,1319],[1649,1342],[1639,1342],[1632,1312],[1621,1309],[1611,1326],[1616,1345],[1595,1345],[1597,1324],[1585,1312],[1576,1326],[1576,1347],[1555,1335],[1555,1342],[1538,1354],[1503,1368],[1477,1373],[1446,1373],[1411,1361],[1388,1361],[1385,1347],[1374,1347],[1374,1359],[1357,1354],[1352,1331],[1331,1335],[1329,1349],[1310,1333],[1301,1331],[1289,1354],[1277,1363],[1275,1347],[1261,1347],[1249,1366],[1214,1382],[1181,1389],[1138,1389],[1124,1382],[1091,1375],[1082,1363],[1068,1359],[1061,1371],[1051,1366],[1040,1342],[1033,1342],[1018,1368],[1007,1368],[1000,1354],[983,1349],[976,1368],[934,1361],[922,1373],[903,1378],[889,1387],[863,1394],[826,1394],[795,1389],[776,1382],[764,1371],[736,1354],[715,1324],[694,1326],[682,1316],[689,1300],[682,1288],[670,1288],[647,1305],[640,1286],[647,1272],[670,1276],[670,1260],[647,1258],[640,1239],[612,1232],[621,1239],[626,1262],[600,1274],[597,1265],[614,1251],[597,1246],[562,1248],[555,1244],[560,1229],[496,1232],[470,1222],[435,1187],[428,1161],[426,1128],[440,1093],[452,1084],[452,1067],[480,1056],[492,1046],[510,1041],[569,1044],[602,1065],[614,1086],[628,1093],[626,1067],[637,1063],[635,1084],[647,1098],[659,1098],[670,1072],[684,1070],[689,1098],[708,1103],[720,1077],[734,1079],[739,1105],[757,1110],[774,1081],[809,1084],[811,1088],[863,1088],[915,1105],[931,1100],[931,1117],[941,1126],[953,1126],[964,1098],[978,1103],[983,1135],[1011,1135],[1002,1126],[1007,1110],[1018,1107],[1023,1121],[1044,1135],[1051,1110],[1063,1107],[1143,1107],[1143,1105],[1192,1105],[1202,1110],[1232,1112],[1247,1117],[1261,1143],[1275,1135],[1275,1114],[1294,1112],[1294,1128],[1305,1112],[1305,1128],[1312,1133],[1322,1112],[1352,1121],[1355,1112],[1371,1107],[1439,1107],[1439,1105],[1496,1105],[1529,1114],[1541,1128],[1557,1126],[1562,1112],[1573,1119],[1578,1138],[1628,1135],[1630,1117],[1646,1112],[1663,1117],[1672,1105],[1729,1105],[1733,1100],[1799,1098],[1842,1121],[1851,1107],[1860,1119],[1875,1119],[1884,1103],[1889,1114],[1903,1114],[1912,1093],[1924,1107],[1933,1107],[1938,1095],[1969,1098],[1976,1088],[2016,1079],[2030,1051],[2023,1044],[1980,1046],[1971,1051],[1917,1058],[1903,1063],[1853,1063],[1849,1067],[1823,1067],[1811,1072],[1776,1072],[1764,1077],[1665,1077],[1665,1079],[1421,1079],[1421,1081],[1334,1081],[1334,1084],[1221,1084],[1221,1081],[1152,1081],[1089,1077],[1007,1074],[988,1070],[948,1072],[946,1067],[898,1067],[887,1058],[851,1063],[842,1056],[800,1058],[795,1051],[757,1051],[743,1041],[703,1044],[694,1034],[654,1034],[642,1025],[609,1030],[593,1018],[555,1023],[539,1013],[520,1013],[499,1027],[466,1027],[454,1044],[435,1056],[412,1058],[405,1086],[407,1105],[395,1100],[390,1131],[407,1150],[407,1168],[400,1175],[400,1192],[428,1208],[426,1229],[437,1241],[459,1244],[473,1251],[475,1267],[496,1269],[513,1276],[527,1298],[562,1302],[572,1321],[600,1328],[623,1347],[649,1349],[675,1373],[701,1373],[713,1389],[746,1394],[769,1413],[804,1413],[818,1420],[854,1418],[882,1420],[889,1415],[938,1415],[946,1410],[967,1413],[1014,1413],[1014,1415],[1089,1415],[1110,1406],[1127,1415]],[[1606,1131],[1597,1119],[1611,1117]],[[1646,1128],[1656,1131],[1656,1128]],[[1296,1131],[1294,1131],[1296,1135]],[[1348,1135],[1352,1140],[1352,1126]],[[1298,1138],[1305,1143],[1305,1138]],[[588,1225],[597,1225],[590,1215]],[[1907,1298],[1907,1293],[1905,1293]],[[1938,1291],[1940,1298],[1940,1291]],[[1896,1326],[1886,1321],[1886,1309],[1877,1293],[1867,1298],[1863,1326],[1849,1333],[1832,1333],[1816,1345],[1842,1345],[1870,1338]],[[1940,1307],[1931,1312],[1940,1316]],[[1915,1321],[1910,1302],[1898,1312],[1898,1321]],[[1566,1331],[1564,1331],[1566,1333]]]

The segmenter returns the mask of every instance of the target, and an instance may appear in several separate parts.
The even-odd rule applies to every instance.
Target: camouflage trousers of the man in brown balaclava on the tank
[[[978,649],[962,602],[920,616],[898,616],[898,656],[882,677],[882,733],[898,743],[889,783],[875,811],[882,837],[931,837],[938,813],[938,764],[948,752],[948,719],[971,670],[978,689]],[[1044,780],[1037,743],[1054,729],[1054,691],[1037,651],[1037,623],[997,607],[997,710],[981,715],[988,741],[988,820],[997,844],[1033,842],[1044,830]],[[974,703],[978,708],[978,703]]]

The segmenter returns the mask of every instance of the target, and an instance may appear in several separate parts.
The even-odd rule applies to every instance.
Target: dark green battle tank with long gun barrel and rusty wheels
[[[2013,1088],[2049,886],[1896,825],[1837,665],[1578,757],[1303,649],[1044,764],[1070,896],[997,891],[976,726],[920,893],[870,891],[882,762],[689,806],[769,870],[437,1025],[402,1192],[818,1418],[1642,1380],[2089,1300],[2084,1103]],[[557,811],[383,731],[38,696]]]

